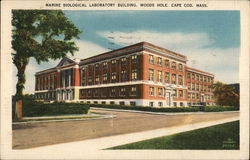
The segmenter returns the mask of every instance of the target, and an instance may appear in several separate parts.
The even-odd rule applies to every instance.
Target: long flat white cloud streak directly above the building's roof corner
[[[205,33],[162,33],[154,31],[97,32],[98,35],[118,45],[132,45],[147,41],[168,49],[200,48],[214,41]],[[181,44],[181,45],[180,45]]]

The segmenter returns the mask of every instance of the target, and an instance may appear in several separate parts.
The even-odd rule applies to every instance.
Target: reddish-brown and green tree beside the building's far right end
[[[213,85],[216,103],[221,106],[239,106],[239,94],[233,88],[222,82]]]

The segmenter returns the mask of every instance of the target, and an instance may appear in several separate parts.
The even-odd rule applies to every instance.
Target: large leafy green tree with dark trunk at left
[[[59,10],[13,10],[12,53],[17,68],[16,97],[22,97],[25,69],[31,57],[38,64],[78,50],[72,41],[80,30]]]

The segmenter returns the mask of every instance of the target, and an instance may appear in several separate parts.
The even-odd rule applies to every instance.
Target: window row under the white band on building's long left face
[[[125,97],[129,94],[129,96],[137,96],[138,95],[138,89],[136,86],[133,87],[120,87],[118,88],[101,88],[101,89],[85,89],[81,90],[81,98],[86,97],[115,97],[116,95],[119,95],[120,97]]]

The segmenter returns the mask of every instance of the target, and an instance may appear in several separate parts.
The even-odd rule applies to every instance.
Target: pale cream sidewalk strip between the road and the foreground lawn
[[[236,120],[239,120],[239,117],[227,118],[223,120],[216,120],[216,121],[210,121],[210,122],[196,123],[192,125],[183,125],[183,126],[178,126],[178,127],[169,127],[169,128],[162,128],[162,129],[151,130],[151,131],[143,131],[143,132],[129,133],[129,134],[123,134],[123,135],[117,135],[117,136],[96,138],[96,139],[90,139],[90,140],[84,140],[84,141],[78,141],[78,142],[56,144],[56,145],[37,147],[37,148],[26,149],[26,150],[32,151],[32,152],[46,153],[48,151],[69,152],[70,149],[72,148],[78,148],[78,149],[80,148],[81,150],[79,152],[83,150],[92,152],[92,151],[107,149],[107,148],[118,146],[118,145],[124,145],[124,144],[142,141],[146,139],[152,139],[152,138],[167,136],[167,135],[171,135],[175,133],[186,132],[186,131],[209,127],[209,126],[222,124],[226,122],[232,122]]]

